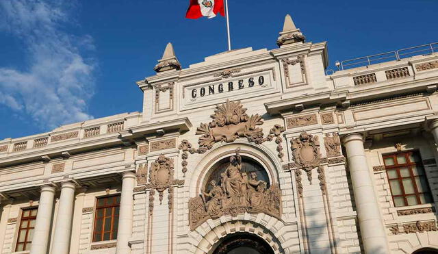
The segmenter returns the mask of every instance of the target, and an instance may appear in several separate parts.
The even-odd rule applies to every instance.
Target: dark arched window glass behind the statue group
[[[215,180],[216,184],[220,186],[221,184],[221,176],[220,174],[224,173],[227,170],[227,167],[230,164],[229,157],[225,157],[219,162],[216,162],[214,166],[209,170],[209,174],[207,175],[207,181],[203,182],[203,190],[205,192],[209,192],[211,186],[209,182],[211,180]],[[266,188],[270,187],[269,176],[266,173],[265,168],[259,164],[259,162],[255,161],[253,158],[242,156],[242,173],[246,173],[248,176],[251,172],[255,172],[257,175],[257,179],[261,181],[265,181],[267,183]]]

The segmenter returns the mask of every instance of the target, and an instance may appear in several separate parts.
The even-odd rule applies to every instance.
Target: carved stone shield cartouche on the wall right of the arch
[[[292,155],[296,166],[305,170],[307,179],[312,181],[312,169],[320,165],[320,142],[318,136],[313,137],[307,132],[302,132],[298,138],[290,141],[292,144]],[[297,169],[297,170],[298,170]]]

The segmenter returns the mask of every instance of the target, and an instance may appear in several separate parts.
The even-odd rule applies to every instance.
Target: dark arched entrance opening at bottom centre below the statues
[[[225,237],[213,254],[274,254],[263,239],[250,233],[233,233]]]

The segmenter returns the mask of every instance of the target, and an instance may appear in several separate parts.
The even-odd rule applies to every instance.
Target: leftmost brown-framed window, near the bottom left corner
[[[23,209],[15,251],[30,250],[32,236],[34,236],[36,212],[38,212],[38,208],[36,207],[31,209]]]

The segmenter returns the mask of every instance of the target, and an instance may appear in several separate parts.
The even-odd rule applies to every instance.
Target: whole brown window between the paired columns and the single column
[[[120,195],[97,199],[93,242],[117,239]]]

